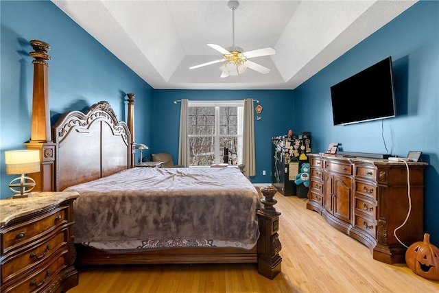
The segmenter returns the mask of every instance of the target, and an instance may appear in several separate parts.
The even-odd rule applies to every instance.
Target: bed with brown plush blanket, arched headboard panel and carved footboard
[[[130,131],[108,102],[64,113],[52,135],[55,189],[80,194],[77,264],[257,263],[269,279],[280,272],[274,190],[259,193],[235,168],[132,167]]]

